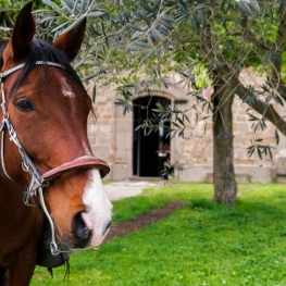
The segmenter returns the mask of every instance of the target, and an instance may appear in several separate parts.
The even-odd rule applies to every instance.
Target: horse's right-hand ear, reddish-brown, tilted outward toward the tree
[[[64,51],[69,60],[72,62],[80,49],[85,36],[85,30],[86,30],[86,18],[80,21],[80,23],[78,23],[76,27],[62,34],[53,42],[53,47]]]

